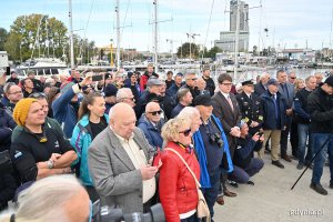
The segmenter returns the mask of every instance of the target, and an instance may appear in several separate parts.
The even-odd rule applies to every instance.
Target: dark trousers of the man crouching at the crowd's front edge
[[[229,178],[238,183],[248,183],[250,176],[258,173],[263,168],[263,160],[252,158],[250,164],[244,169],[238,165],[233,165],[233,172],[229,175]]]

